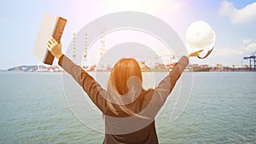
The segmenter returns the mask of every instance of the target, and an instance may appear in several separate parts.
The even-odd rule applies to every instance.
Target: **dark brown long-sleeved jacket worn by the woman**
[[[105,139],[103,143],[144,143],[157,144],[158,139],[155,131],[154,117],[172,92],[177,79],[185,67],[189,64],[189,59],[183,56],[178,60],[169,75],[164,78],[155,89],[143,90],[135,101],[127,104],[134,112],[145,118],[128,116],[125,112],[118,111],[116,115],[111,112],[106,104],[107,91],[96,83],[82,67],[77,66],[66,55],[62,55],[59,65],[68,72],[89,95],[103,115],[105,116]],[[113,105],[115,106],[115,105]]]

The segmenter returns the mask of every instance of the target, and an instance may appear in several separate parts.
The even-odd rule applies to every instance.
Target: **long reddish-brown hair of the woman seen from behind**
[[[143,90],[143,76],[141,67],[137,60],[132,58],[123,58],[119,60],[110,73],[108,80],[108,100],[107,106],[109,110],[119,115],[117,109],[128,115],[137,115],[126,105],[125,99],[134,101]],[[117,107],[113,107],[113,103]]]

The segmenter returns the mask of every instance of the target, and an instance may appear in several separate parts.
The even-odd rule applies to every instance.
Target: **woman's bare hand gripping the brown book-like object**
[[[49,40],[47,41],[47,49],[49,52],[54,55],[57,59],[61,58],[61,55],[63,55],[61,51],[62,44],[58,43],[54,37],[49,37]]]

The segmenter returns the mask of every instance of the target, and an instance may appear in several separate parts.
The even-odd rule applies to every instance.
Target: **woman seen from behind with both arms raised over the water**
[[[62,54],[61,43],[51,37],[47,44],[50,53],[59,60],[58,64],[73,76],[102,111],[105,120],[103,143],[158,143],[154,117],[189,64],[187,56],[178,60],[169,75],[155,89],[148,90],[142,87],[143,77],[137,60],[121,59],[113,66],[108,90],[105,90],[82,67]],[[189,56],[198,56],[201,51]]]

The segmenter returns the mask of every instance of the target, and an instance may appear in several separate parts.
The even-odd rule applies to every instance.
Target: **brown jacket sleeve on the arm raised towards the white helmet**
[[[178,62],[173,66],[172,71],[168,76],[160,81],[160,84],[154,90],[154,96],[157,96],[154,100],[157,103],[164,104],[168,95],[171,94],[178,78],[180,78],[186,66],[189,64],[189,58],[187,56],[181,57]]]

